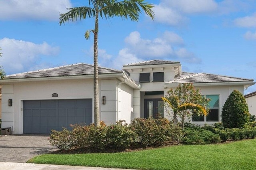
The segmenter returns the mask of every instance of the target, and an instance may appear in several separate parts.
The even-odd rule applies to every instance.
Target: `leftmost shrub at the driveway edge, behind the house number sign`
[[[62,145],[69,144],[74,146],[76,140],[73,138],[72,131],[63,128],[61,131],[52,130],[52,133],[49,137],[50,144],[57,146],[59,149],[62,149]]]

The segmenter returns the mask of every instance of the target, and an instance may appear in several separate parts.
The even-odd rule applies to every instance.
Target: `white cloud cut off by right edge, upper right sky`
[[[236,20],[234,20],[234,23],[236,24],[236,26],[239,27],[256,27],[256,13],[254,13],[252,16],[237,18]]]

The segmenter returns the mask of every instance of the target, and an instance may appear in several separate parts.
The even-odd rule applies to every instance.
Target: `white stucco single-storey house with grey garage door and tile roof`
[[[180,62],[149,60],[124,65],[122,70],[99,67],[100,120],[112,124],[123,119],[164,113],[161,97],[180,83],[193,83],[211,98],[210,114],[194,117],[204,125],[221,121],[221,109],[230,93],[254,85],[243,79],[206,73],[182,72]],[[14,134],[50,133],[70,124],[94,122],[93,65],[84,63],[8,75],[2,87],[2,127]]]

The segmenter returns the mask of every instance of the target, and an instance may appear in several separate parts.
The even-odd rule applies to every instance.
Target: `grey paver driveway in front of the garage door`
[[[25,163],[34,156],[57,150],[50,145],[48,137],[44,134],[0,136],[0,161]]]

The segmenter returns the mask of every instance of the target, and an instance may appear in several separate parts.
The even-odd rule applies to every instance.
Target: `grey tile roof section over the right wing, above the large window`
[[[224,82],[240,82],[240,81],[253,81],[253,79],[244,79],[238,77],[230,77],[223,75],[207,74],[207,73],[187,73],[182,72],[181,75],[174,78],[169,83],[224,83]]]

